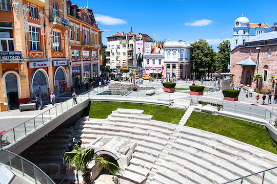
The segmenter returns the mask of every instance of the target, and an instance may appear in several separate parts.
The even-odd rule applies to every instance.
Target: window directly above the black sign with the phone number
[[[0,45],[3,51],[14,51],[12,22],[0,22]]]

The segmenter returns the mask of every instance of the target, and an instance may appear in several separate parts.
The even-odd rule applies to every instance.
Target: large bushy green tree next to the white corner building
[[[207,40],[199,39],[192,43],[192,58],[194,72],[214,72],[214,50]]]

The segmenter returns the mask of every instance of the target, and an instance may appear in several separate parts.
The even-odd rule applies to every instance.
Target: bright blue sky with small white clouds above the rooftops
[[[78,7],[86,0],[72,0]],[[194,42],[206,39],[214,50],[222,40],[231,38],[236,18],[243,13],[250,23],[277,22],[277,1],[88,1],[93,10],[102,42],[116,32],[148,34],[156,40]]]

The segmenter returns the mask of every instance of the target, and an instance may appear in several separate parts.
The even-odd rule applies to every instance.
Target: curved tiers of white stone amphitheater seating
[[[277,155],[268,151],[142,113],[117,109],[107,119],[84,118],[76,124],[77,137],[114,157],[133,183],[224,183],[277,165]],[[277,172],[267,176],[266,183],[277,183]]]

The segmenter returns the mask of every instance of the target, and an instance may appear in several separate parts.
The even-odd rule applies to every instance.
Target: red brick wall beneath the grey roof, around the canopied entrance
[[[251,75],[250,83],[252,87],[256,88],[256,82],[253,82],[253,75],[257,73],[258,67],[256,66],[242,66],[235,63],[238,63],[242,60],[248,59],[249,57],[257,63],[257,57],[258,57],[258,50],[256,50],[258,46],[254,47],[238,47],[235,48],[233,51],[231,51],[231,68],[230,72],[234,74],[234,83],[242,83],[247,84],[247,71]],[[277,45],[266,45],[266,46],[259,46],[260,49],[260,56],[259,56],[259,74],[262,74],[264,76],[264,67],[268,67],[268,74],[267,74],[267,82],[259,82],[259,88],[262,89],[268,89],[271,90],[272,88],[272,82],[268,82],[270,79],[270,76],[277,76]],[[271,56],[268,57],[268,51],[271,49]],[[249,52],[251,50],[251,56],[249,55]],[[243,70],[244,68],[244,70]],[[254,74],[253,74],[254,70]],[[248,77],[249,77],[248,74]]]

